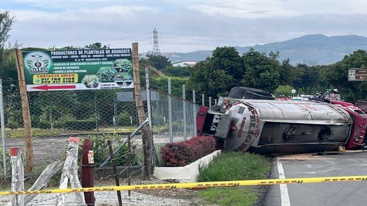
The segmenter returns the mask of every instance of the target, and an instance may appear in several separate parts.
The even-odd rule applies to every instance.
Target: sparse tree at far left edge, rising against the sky
[[[3,50],[5,42],[9,39],[9,31],[15,22],[15,17],[10,17],[8,11],[0,11],[0,77],[3,76]]]

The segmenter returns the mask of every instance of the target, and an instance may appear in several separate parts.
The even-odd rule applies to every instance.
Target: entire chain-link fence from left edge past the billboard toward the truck
[[[186,139],[196,135],[197,104],[158,90],[151,91],[150,97],[153,136]],[[146,91],[142,99],[148,116]],[[132,89],[29,92],[28,100],[32,136],[132,132],[139,126]],[[5,91],[3,102],[6,136],[24,136],[19,92]]]

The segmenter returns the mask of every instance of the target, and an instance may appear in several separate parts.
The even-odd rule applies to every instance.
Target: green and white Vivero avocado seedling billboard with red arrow
[[[27,91],[133,88],[131,49],[23,52]]]

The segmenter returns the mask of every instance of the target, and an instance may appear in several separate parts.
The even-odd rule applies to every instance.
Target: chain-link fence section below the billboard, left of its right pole
[[[117,92],[120,90],[29,92],[32,133],[37,136],[42,130],[57,134],[134,129],[138,125],[135,101],[118,103]],[[20,95],[4,96],[4,105],[7,130],[23,128]]]

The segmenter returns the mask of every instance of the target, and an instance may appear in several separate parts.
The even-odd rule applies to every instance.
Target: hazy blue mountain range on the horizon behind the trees
[[[240,54],[249,51],[251,47],[235,47]],[[289,58],[290,63],[326,65],[338,62],[357,50],[367,51],[367,37],[357,35],[325,36],[310,34],[282,42],[252,46],[259,52],[280,52],[279,61]],[[162,53],[174,63],[184,60],[202,61],[211,56],[212,51],[195,51],[190,53]]]

